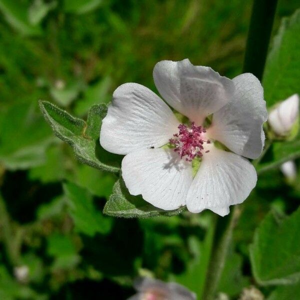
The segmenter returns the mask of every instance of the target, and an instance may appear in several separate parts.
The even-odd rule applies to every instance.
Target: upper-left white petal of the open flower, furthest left
[[[102,121],[100,144],[117,154],[159,147],[178,131],[178,124],[171,109],[154,92],[137,83],[125,83],[113,92]]]

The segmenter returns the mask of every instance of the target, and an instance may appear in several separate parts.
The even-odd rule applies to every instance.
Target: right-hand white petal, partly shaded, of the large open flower
[[[263,89],[251,73],[238,75],[232,81],[234,97],[213,114],[207,134],[239,155],[257,158],[264,144],[262,123],[267,119]]]

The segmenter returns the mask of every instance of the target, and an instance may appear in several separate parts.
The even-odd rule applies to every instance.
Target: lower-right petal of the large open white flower
[[[190,185],[186,207],[191,212],[210,209],[219,215],[241,203],[256,184],[253,165],[245,158],[210,146]]]

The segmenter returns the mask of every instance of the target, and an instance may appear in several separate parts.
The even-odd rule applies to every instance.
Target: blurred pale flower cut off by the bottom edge
[[[151,278],[135,280],[137,294],[127,300],[196,300],[196,295],[174,282],[165,283]]]

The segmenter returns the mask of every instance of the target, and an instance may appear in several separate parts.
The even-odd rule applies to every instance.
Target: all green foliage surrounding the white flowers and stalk
[[[300,92],[297,5],[279,1],[263,77],[268,107]],[[130,195],[122,156],[101,148],[99,130],[119,84],[154,89],[158,60],[188,57],[239,74],[250,8],[239,0],[0,0],[1,299],[126,299],[144,274],[201,298],[214,215],[165,212]],[[300,297],[300,174],[290,185],[278,170],[299,157],[299,134],[255,162],[257,187],[218,284],[230,299],[250,283],[270,300]]]

